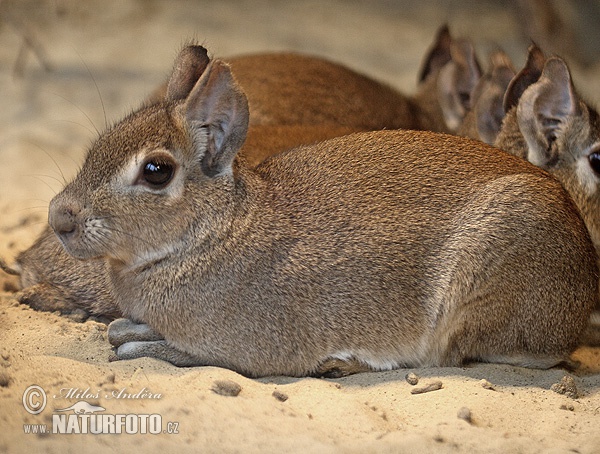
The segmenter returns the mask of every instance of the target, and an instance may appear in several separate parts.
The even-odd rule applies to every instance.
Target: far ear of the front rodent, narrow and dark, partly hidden
[[[204,47],[184,47],[175,59],[173,72],[167,83],[167,101],[187,98],[209,63],[208,52]]]

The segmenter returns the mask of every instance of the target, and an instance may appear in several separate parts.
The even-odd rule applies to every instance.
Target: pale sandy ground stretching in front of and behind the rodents
[[[96,129],[162,81],[190,37],[216,56],[326,56],[411,93],[444,21],[454,34],[474,38],[482,56],[501,44],[523,62],[527,40],[502,2],[4,0],[0,255],[10,261],[32,242]],[[51,71],[30,51],[19,60],[23,36],[39,43]],[[597,101],[600,68],[575,72],[581,91]],[[599,348],[579,349],[581,366],[569,372],[478,364],[250,380],[152,359],[109,362],[105,325],[19,305],[15,281],[0,279],[0,452],[600,452]],[[416,387],[442,387],[411,394],[408,372],[420,377]],[[564,376],[576,394],[552,389]],[[35,415],[23,404],[32,385],[47,396]],[[223,395],[232,391],[239,393]],[[41,402],[25,395],[29,407]],[[100,413],[160,415],[162,430],[178,433],[25,433],[29,424],[51,429],[53,415],[73,414],[59,409],[82,400],[103,407]]]

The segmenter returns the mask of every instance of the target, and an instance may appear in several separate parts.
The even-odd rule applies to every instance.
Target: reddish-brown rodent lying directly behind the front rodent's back
[[[415,96],[312,55],[259,53],[225,60],[247,93],[251,126],[454,132],[481,77],[472,43],[454,39],[447,25],[439,28],[423,59]],[[164,99],[166,89],[165,83],[150,102]]]

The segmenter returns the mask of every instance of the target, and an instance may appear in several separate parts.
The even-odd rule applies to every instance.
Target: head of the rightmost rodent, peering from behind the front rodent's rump
[[[535,45],[504,104],[508,111],[495,145],[562,183],[600,253],[600,115],[575,90],[565,61],[546,59]]]

